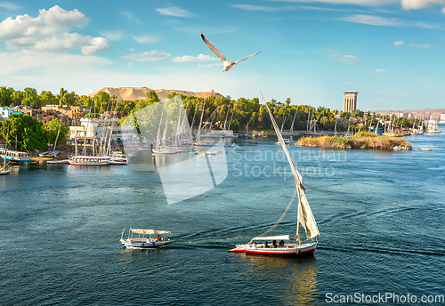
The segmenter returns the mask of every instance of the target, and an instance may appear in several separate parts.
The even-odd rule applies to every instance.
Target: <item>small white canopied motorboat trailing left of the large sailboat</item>
[[[128,229],[128,238],[126,239],[124,239],[124,232],[125,229],[122,229],[122,235],[120,237],[120,243],[124,249],[147,249],[165,246],[170,243],[171,232],[167,230],[130,228]]]

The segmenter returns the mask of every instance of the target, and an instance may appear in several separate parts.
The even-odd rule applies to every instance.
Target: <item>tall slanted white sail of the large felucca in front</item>
[[[315,222],[315,219],[313,217],[311,207],[309,206],[306,195],[304,194],[302,175],[295,168],[295,162],[292,159],[292,157],[290,156],[289,151],[287,150],[287,146],[283,140],[283,136],[279,132],[279,127],[271,114],[271,109],[269,109],[269,106],[267,105],[267,103],[265,103],[265,106],[266,106],[267,112],[269,113],[269,116],[271,117],[272,125],[273,125],[273,128],[275,129],[275,133],[277,133],[277,136],[279,138],[279,143],[281,144],[281,147],[283,147],[284,153],[286,154],[287,160],[290,164],[290,168],[292,169],[292,173],[294,174],[294,177],[295,177],[295,185],[296,185],[296,190],[298,192],[298,198],[299,198],[298,221],[300,222],[300,224],[302,224],[303,228],[306,230],[306,237],[308,239],[314,238],[314,237],[320,235],[320,231],[317,228],[317,223]]]

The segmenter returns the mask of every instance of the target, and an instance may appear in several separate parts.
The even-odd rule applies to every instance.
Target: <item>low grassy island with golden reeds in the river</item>
[[[326,149],[381,149],[381,150],[409,150],[411,143],[403,138],[377,136],[375,133],[360,132],[352,137],[320,136],[302,137],[296,146]]]

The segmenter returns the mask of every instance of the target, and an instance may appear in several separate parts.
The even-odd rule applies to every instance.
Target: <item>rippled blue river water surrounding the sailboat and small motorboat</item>
[[[291,146],[321,232],[307,258],[226,252],[269,229],[292,197],[272,139],[235,141],[225,181],[173,205],[153,171],[16,167],[0,177],[0,304],[320,305],[328,293],[445,294],[441,130],[408,137],[409,152]],[[295,208],[274,233],[295,233]],[[129,227],[171,230],[173,242],[124,251],[118,239]]]

